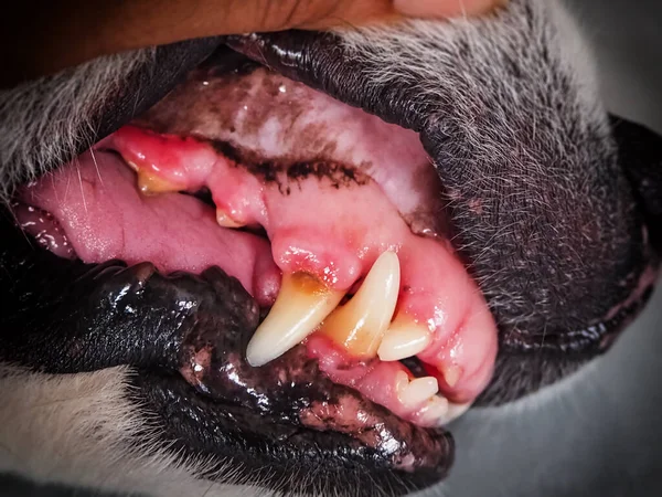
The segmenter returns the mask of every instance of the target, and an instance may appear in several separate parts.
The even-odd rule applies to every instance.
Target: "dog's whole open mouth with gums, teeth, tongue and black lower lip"
[[[218,49],[15,195],[38,257],[73,282],[50,290],[75,330],[54,372],[134,366],[164,442],[212,456],[210,477],[231,463],[284,491],[433,485],[453,457],[444,426],[498,349],[452,197],[415,131],[242,43],[250,59]]]

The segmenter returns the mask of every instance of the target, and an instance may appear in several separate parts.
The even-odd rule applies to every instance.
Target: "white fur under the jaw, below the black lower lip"
[[[183,464],[166,451],[159,426],[129,401],[127,374],[113,368],[53,376],[0,363],[0,472],[163,497],[257,495],[196,479],[204,462]],[[136,445],[146,427],[153,440]]]

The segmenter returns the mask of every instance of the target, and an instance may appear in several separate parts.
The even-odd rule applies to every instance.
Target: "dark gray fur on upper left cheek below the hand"
[[[0,91],[0,200],[17,181],[94,145],[93,119],[153,49],[104,56],[53,76]]]

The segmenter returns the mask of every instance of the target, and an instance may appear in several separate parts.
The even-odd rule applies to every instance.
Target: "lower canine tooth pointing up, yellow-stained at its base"
[[[356,358],[375,357],[395,311],[399,275],[397,254],[380,255],[352,299],[324,320],[324,335]]]

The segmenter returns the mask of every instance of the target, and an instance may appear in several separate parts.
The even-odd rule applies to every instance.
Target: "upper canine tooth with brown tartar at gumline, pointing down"
[[[248,342],[248,363],[263,366],[282,356],[312,334],[343,296],[308,273],[284,275],[274,307]]]

